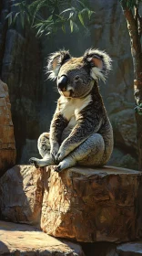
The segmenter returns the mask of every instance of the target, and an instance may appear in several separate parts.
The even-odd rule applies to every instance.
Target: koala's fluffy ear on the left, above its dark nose
[[[60,50],[52,53],[47,59],[47,73],[49,73],[48,78],[56,80],[59,69],[68,59],[71,59],[71,56],[67,50]]]

